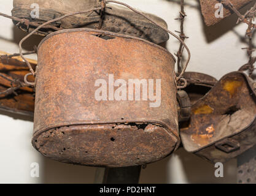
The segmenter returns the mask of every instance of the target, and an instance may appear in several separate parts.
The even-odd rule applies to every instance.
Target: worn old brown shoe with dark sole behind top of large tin
[[[39,5],[39,17],[31,18],[31,4],[37,3]],[[14,0],[14,9],[12,9],[12,16],[14,18],[15,26],[18,26],[25,32],[31,32],[45,21],[61,17],[66,13],[78,12],[87,10],[93,7],[99,7],[101,3],[97,0],[73,0],[73,1],[42,1],[42,0]],[[43,29],[36,32],[41,36],[47,36],[51,32],[59,31],[61,29],[73,28],[91,28],[102,29],[104,31],[116,32],[126,34],[128,36],[140,37],[149,40],[153,43],[163,43],[169,39],[168,33],[155,24],[149,23],[144,17],[125,9],[125,7],[116,6],[115,4],[107,4],[101,12],[99,7],[96,12],[83,13],[74,15],[72,17],[64,18],[63,20],[50,23]],[[147,16],[158,21],[161,26],[167,28],[166,22],[150,13]],[[25,19],[20,21],[18,19]],[[102,20],[102,21],[101,21]],[[101,23],[102,22],[102,23]]]

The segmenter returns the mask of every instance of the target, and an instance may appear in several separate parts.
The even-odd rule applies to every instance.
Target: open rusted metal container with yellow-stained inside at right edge
[[[254,83],[241,72],[225,75],[192,105],[180,130],[184,148],[211,162],[225,162],[256,144]]]

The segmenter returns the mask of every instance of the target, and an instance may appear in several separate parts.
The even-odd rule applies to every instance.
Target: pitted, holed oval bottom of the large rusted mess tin
[[[45,157],[68,164],[127,167],[163,159],[177,138],[153,124],[93,124],[47,130],[33,144]]]

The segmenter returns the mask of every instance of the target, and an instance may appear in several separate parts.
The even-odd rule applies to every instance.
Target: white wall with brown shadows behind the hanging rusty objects
[[[85,0],[81,0],[85,1]],[[175,1],[175,0],[174,0]],[[126,0],[123,1],[145,12],[154,13],[166,20],[171,31],[179,30],[179,4],[168,0]],[[228,72],[238,70],[247,62],[246,47],[239,36],[244,36],[246,26],[235,25],[236,16],[223,20],[208,28],[203,23],[199,2],[186,0],[188,15],[185,32],[190,37],[186,41],[192,52],[188,70],[210,74],[217,79]],[[246,9],[248,6],[246,7]],[[244,9],[244,10],[246,10]],[[10,15],[12,0],[0,0],[0,12]],[[0,50],[18,52],[18,42],[26,34],[7,18],[0,18]],[[25,43],[31,50],[41,37],[34,36]],[[167,48],[176,53],[179,43],[171,38]],[[28,58],[36,59],[30,55]],[[19,117],[20,118],[20,117]],[[33,123],[28,119],[17,119],[9,113],[0,113],[0,183],[93,183],[96,168],[62,164],[45,159],[31,145]],[[30,165],[38,162],[40,177],[31,178]],[[179,149],[160,162],[150,164],[142,170],[140,183],[236,183],[236,160],[224,165],[224,178],[215,178],[214,165],[194,154]]]

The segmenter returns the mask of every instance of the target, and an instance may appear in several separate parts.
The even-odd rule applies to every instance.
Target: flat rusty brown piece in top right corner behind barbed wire
[[[238,10],[252,1],[254,0],[230,0],[235,9]],[[223,6],[223,18],[215,17],[215,13],[219,10],[218,7],[215,6],[220,2],[220,0],[200,0],[201,12],[203,13],[204,22],[206,25],[215,25],[215,23],[218,23],[220,20],[230,16],[233,13],[230,9],[228,9],[228,7]]]

